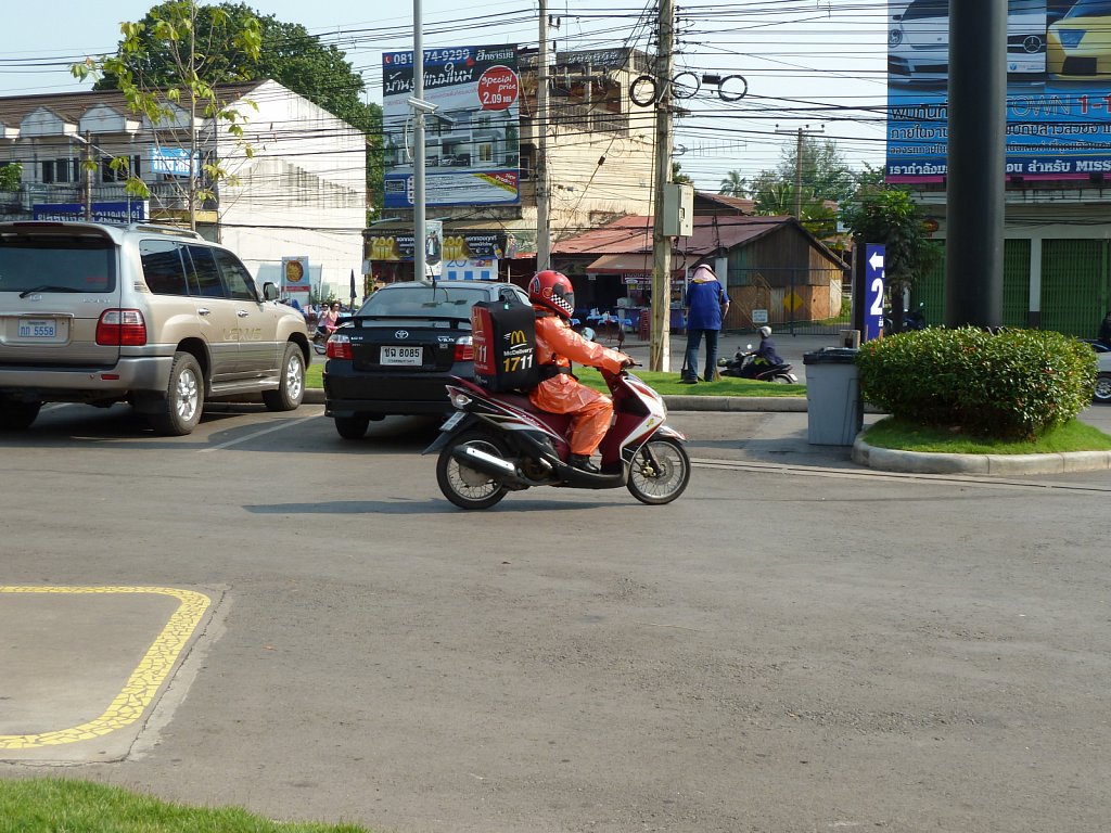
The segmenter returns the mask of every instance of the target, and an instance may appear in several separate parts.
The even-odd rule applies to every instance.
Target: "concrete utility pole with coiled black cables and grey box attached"
[[[663,233],[663,194],[671,182],[671,72],[675,40],[673,0],[660,0],[655,58],[655,194],[652,208],[652,342],[649,369],[671,370],[671,238]]]

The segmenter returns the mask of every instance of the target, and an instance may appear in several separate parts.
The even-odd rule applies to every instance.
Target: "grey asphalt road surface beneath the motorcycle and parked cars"
[[[1111,817],[1107,472],[885,475],[802,454],[797,414],[675,413],[697,464],[669,506],[466,513],[419,456],[434,425],[351,443],[321,413],[164,439],[60,407],[0,438],[0,585],[211,600],[142,720],[83,746],[120,760],[0,749],[0,775],[399,833]],[[8,736],[100,714],[172,608],[3,586]]]

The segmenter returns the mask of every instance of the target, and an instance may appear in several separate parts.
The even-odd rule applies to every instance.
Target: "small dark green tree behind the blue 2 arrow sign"
[[[888,185],[864,185],[857,199],[841,210],[842,222],[855,238],[854,251],[865,243],[887,248],[883,270],[895,332],[902,330],[903,294],[941,258],[941,249],[927,237],[922,215],[910,191]]]

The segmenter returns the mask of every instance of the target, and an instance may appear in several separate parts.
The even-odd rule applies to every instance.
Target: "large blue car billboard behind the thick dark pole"
[[[887,180],[947,172],[949,0],[888,6]],[[1111,0],[1009,0],[1007,174],[1111,173]]]

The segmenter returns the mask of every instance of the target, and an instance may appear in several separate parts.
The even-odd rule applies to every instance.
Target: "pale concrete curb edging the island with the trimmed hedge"
[[[931,454],[878,449],[860,434],[852,444],[852,462],[881,471],[911,474],[1068,474],[1111,470],[1111,451],[1069,451],[1059,454]]]

